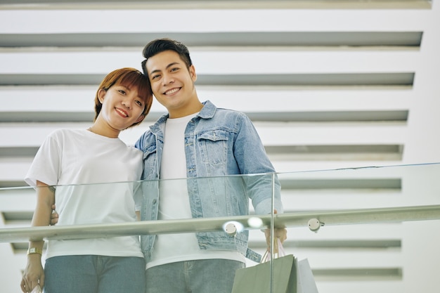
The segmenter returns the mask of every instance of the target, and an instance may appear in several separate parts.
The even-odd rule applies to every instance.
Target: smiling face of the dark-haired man
[[[198,103],[194,82],[194,66],[189,69],[174,51],[163,51],[145,63],[151,89],[157,101],[169,111],[170,117],[181,117],[193,103]]]

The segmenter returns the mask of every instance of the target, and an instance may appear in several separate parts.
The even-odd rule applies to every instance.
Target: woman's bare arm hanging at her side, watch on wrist
[[[48,226],[51,221],[52,205],[55,204],[55,190],[52,186],[37,181],[37,207],[32,217],[31,226]],[[35,286],[44,287],[44,269],[41,253],[44,241],[30,241],[27,265],[21,281],[22,292],[30,292]]]

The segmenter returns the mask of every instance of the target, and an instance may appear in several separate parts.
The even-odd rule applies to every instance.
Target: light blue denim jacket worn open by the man
[[[164,144],[163,115],[136,142],[143,151],[143,204],[141,221],[157,220],[160,162]],[[254,125],[242,112],[216,108],[206,101],[185,130],[186,174],[193,218],[242,216],[249,214],[249,199],[255,214],[271,213],[275,178],[275,208],[283,212],[280,183]],[[252,174],[252,176],[240,176]],[[241,252],[249,259],[259,254],[247,249],[245,230],[231,237],[225,232],[196,233],[200,249]],[[149,261],[155,235],[141,236],[145,260]]]

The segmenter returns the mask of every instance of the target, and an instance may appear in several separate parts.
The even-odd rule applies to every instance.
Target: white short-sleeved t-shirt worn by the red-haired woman
[[[57,185],[57,226],[134,222],[142,197],[131,181],[138,181],[142,170],[142,152],[119,138],[61,129],[41,145],[25,181]],[[143,257],[136,235],[48,241],[46,258],[79,254]]]

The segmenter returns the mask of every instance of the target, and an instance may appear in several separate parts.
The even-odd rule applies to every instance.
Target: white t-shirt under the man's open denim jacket
[[[192,219],[186,185],[185,129],[196,114],[167,119],[160,163],[158,219]],[[195,259],[231,259],[245,262],[240,252],[200,249],[195,233],[157,235],[147,268]]]

